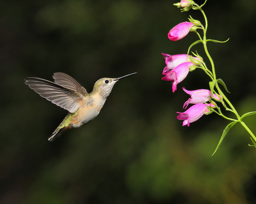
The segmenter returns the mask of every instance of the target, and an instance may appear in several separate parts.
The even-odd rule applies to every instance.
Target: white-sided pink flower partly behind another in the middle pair
[[[163,74],[166,72],[169,72],[170,70],[174,69],[175,67],[177,67],[179,64],[183,62],[190,62],[189,55],[186,55],[186,54],[168,55],[168,54],[162,53],[162,55],[164,55],[165,64],[166,64],[166,67],[163,70]],[[194,57],[194,58],[200,61],[198,57]],[[193,65],[196,65],[196,64],[193,63]]]

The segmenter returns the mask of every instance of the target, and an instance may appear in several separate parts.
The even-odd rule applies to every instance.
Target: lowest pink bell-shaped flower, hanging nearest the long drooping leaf
[[[184,113],[180,113],[180,115],[177,116],[178,120],[184,120],[182,126],[188,125],[190,122],[194,122],[201,118],[204,114],[211,113],[211,111],[208,109],[207,106],[210,107],[215,107],[212,103],[210,104],[204,104],[204,103],[199,103],[194,106],[191,106],[186,110]],[[179,113],[179,112],[177,112]]]

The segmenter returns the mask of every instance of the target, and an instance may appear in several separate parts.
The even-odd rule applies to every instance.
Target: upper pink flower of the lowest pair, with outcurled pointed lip
[[[183,108],[187,108],[188,104],[199,104],[199,103],[204,103],[207,102],[208,100],[210,100],[210,96],[212,98],[215,98],[216,100],[221,100],[221,96],[217,96],[216,94],[211,94],[210,90],[207,89],[198,89],[198,90],[194,90],[194,91],[188,91],[186,90],[184,87],[182,87],[182,89],[191,96],[191,98],[189,98],[185,103]]]

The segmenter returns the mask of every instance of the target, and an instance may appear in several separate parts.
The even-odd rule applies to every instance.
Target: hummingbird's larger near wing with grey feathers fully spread
[[[79,101],[83,97],[77,91],[36,77],[28,77],[24,80],[26,80],[25,84],[36,91],[36,93],[39,93],[40,96],[68,110],[70,113],[75,113],[80,107]]]

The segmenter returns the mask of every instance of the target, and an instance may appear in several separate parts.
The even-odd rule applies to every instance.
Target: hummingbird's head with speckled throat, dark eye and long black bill
[[[137,72],[132,73],[132,74],[136,74],[136,73]],[[119,78],[102,78],[102,79],[99,79],[94,84],[93,92],[99,92],[102,98],[107,98],[109,96],[114,84],[116,84],[116,82],[119,79],[130,76],[132,74],[128,74],[128,75],[125,75],[125,76],[119,77]]]

